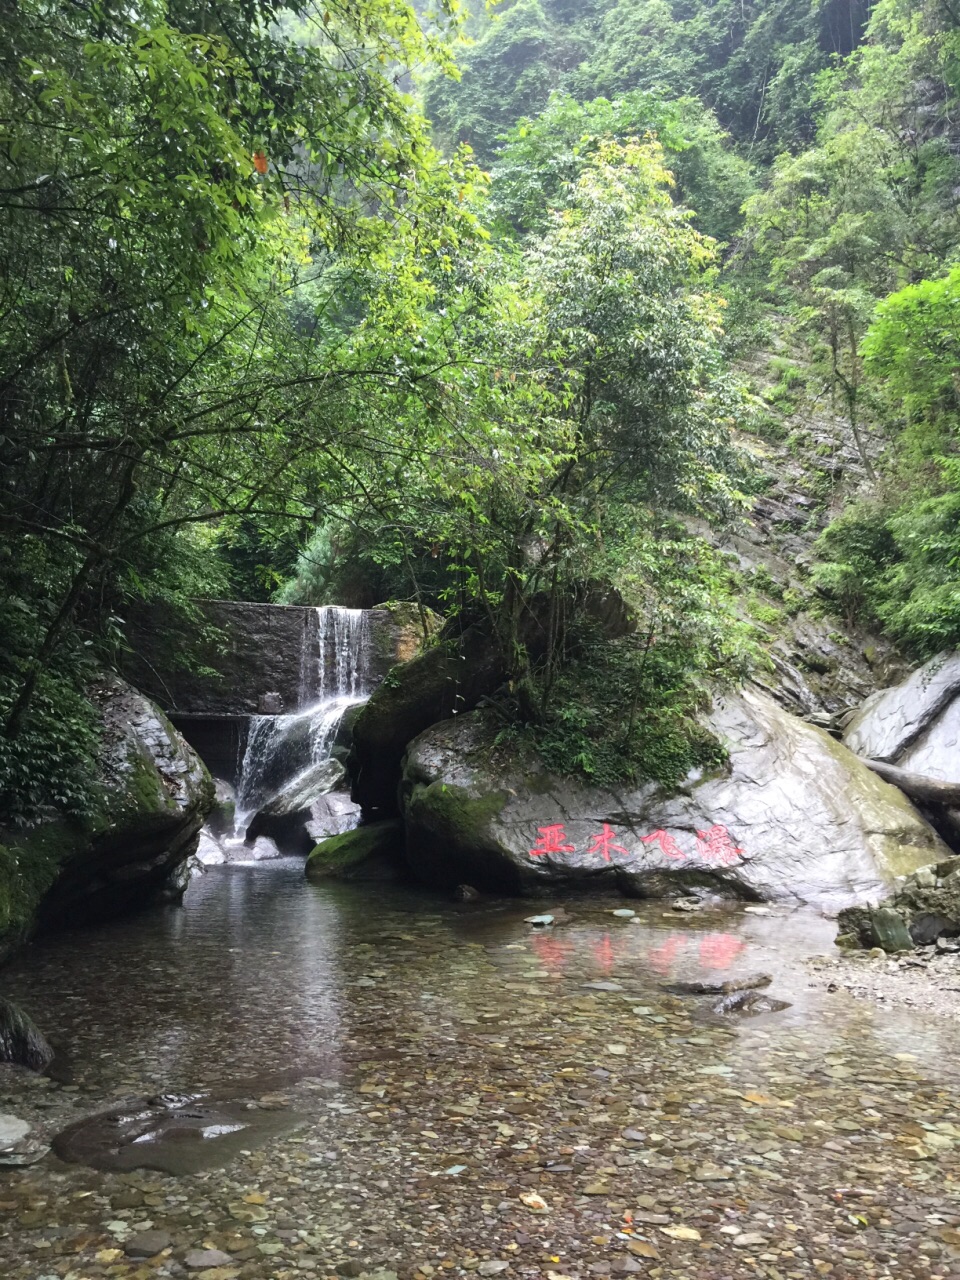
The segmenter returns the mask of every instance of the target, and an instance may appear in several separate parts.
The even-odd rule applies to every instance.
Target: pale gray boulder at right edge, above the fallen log
[[[868,698],[844,744],[856,755],[960,782],[960,653],[940,654],[902,684]]]

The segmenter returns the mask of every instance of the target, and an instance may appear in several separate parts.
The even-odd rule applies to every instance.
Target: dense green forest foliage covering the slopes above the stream
[[[5,815],[83,812],[84,681],[205,594],[481,620],[553,763],[710,763],[753,648],[692,530],[759,486],[731,352],[773,334],[773,408],[859,454],[822,602],[960,643],[952,8],[458,8],[0,13]]]

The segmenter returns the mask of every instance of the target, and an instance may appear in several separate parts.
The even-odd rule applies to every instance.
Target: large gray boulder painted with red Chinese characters
[[[680,884],[838,906],[947,856],[899,790],[767,695],[717,699],[708,723],[730,763],[673,794],[554,777],[494,748],[483,713],[435,724],[406,759],[411,868],[449,888],[593,883],[662,896]]]

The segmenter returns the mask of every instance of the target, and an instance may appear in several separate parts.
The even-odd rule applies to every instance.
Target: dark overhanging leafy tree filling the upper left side
[[[191,566],[211,559],[196,530],[323,506],[346,389],[397,378],[389,351],[362,367],[344,351],[329,320],[344,283],[392,238],[442,255],[472,234],[467,175],[439,163],[399,87],[404,64],[445,56],[438,37],[398,0],[365,0],[297,5],[298,44],[279,22],[293,12],[151,0],[51,22],[22,0],[0,15],[14,780],[46,750],[44,699],[83,680],[77,646],[109,649],[104,620],[131,599],[196,590]],[[305,276],[325,282],[311,326],[287,305]]]

